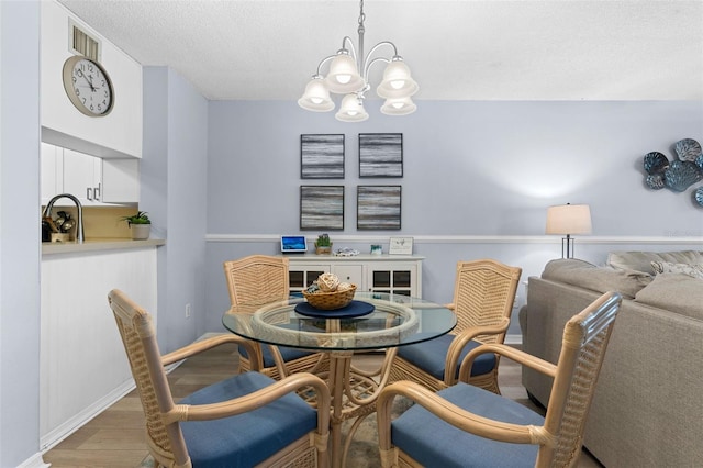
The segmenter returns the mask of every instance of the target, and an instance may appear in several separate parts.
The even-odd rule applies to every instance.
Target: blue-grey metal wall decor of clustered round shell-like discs
[[[703,180],[703,151],[693,138],[683,138],[673,145],[678,159],[669,158],[659,152],[647,153],[644,158],[645,183],[652,190],[665,187],[683,192],[693,183]],[[703,207],[703,187],[694,190],[693,200]]]

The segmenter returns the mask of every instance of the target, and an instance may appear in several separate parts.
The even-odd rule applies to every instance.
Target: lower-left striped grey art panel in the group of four
[[[344,186],[300,186],[301,230],[344,230]]]

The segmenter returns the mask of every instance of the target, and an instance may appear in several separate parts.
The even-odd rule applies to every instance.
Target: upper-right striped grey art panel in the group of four
[[[403,177],[403,134],[359,133],[359,177]]]

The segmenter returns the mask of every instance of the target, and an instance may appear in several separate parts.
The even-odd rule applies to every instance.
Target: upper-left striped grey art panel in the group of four
[[[344,134],[300,135],[301,179],[344,179]]]

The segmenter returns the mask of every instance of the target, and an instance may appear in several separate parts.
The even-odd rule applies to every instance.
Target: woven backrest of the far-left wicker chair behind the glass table
[[[256,307],[288,298],[290,279],[286,257],[250,255],[224,261],[232,305]]]

